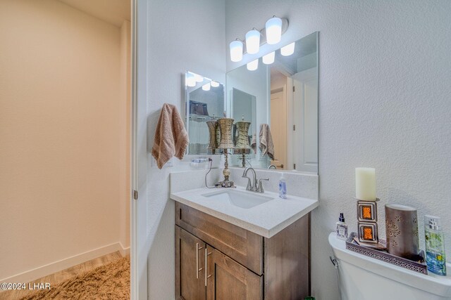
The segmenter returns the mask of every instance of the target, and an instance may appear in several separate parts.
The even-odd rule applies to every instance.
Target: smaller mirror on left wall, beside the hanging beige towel
[[[190,136],[188,154],[218,154],[209,145],[207,122],[223,117],[226,110],[224,85],[193,72],[185,73],[186,129]]]

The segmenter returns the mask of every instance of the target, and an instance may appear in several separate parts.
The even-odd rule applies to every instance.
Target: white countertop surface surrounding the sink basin
[[[245,209],[236,207],[228,201],[213,200],[203,196],[221,190],[225,189],[197,188],[171,193],[171,199],[268,238],[319,206],[318,200],[291,195],[287,195],[287,199],[281,199],[276,193],[259,194],[249,192],[240,186],[232,190],[273,199],[256,207]]]

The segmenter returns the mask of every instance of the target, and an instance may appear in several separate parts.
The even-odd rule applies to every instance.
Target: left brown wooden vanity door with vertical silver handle
[[[175,296],[183,300],[204,300],[206,244],[175,226]]]

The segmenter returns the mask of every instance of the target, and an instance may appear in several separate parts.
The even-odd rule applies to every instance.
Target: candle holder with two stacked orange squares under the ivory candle
[[[379,199],[376,198],[376,201]],[[378,204],[376,201],[357,199],[357,226],[359,242],[378,244]]]

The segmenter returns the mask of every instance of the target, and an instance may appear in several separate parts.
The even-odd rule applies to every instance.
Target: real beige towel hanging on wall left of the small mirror
[[[188,133],[177,107],[164,103],[156,125],[152,148],[152,156],[156,159],[159,169],[173,156],[183,159],[188,143],[190,143]]]

